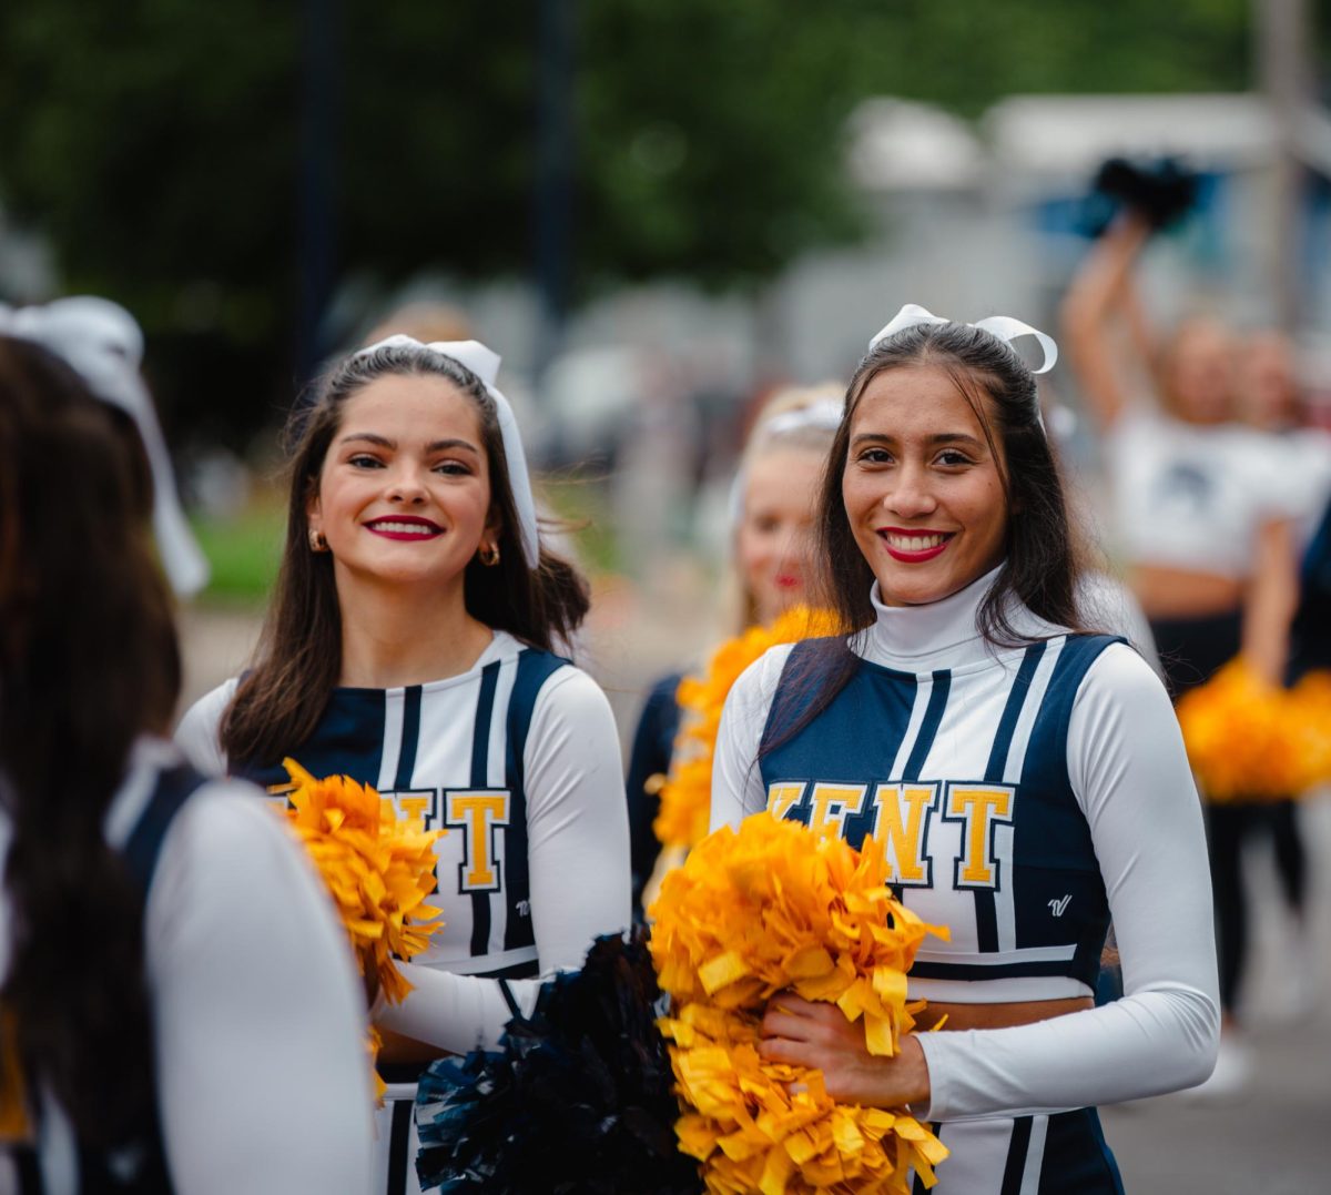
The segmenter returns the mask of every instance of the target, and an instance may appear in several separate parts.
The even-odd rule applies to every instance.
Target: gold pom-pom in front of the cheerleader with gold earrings
[[[443,926],[423,902],[434,892],[434,844],[446,832],[398,817],[391,801],[349,776],[317,780],[295,760],[282,765],[291,777],[286,814],[333,896],[361,974],[399,1003],[411,985],[394,958],[419,954]]]

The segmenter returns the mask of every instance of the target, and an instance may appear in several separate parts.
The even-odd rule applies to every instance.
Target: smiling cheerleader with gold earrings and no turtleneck
[[[216,770],[277,785],[293,757],[447,830],[431,898],[445,928],[402,966],[406,1001],[374,1010],[389,1195],[419,1190],[421,1069],[494,1045],[534,977],[580,966],[592,938],[630,921],[610,704],[551,652],[587,590],[542,543],[498,366],[475,341],[393,335],[331,371],[294,417],[286,546],[254,665],[177,736]]]

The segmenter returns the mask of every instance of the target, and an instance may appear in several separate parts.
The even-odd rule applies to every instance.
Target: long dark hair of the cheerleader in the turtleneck
[[[823,475],[817,514],[813,590],[847,635],[874,621],[869,596],[874,575],[864,559],[841,496],[851,425],[869,383],[886,370],[936,367],[976,413],[998,464],[1008,508],[1004,563],[977,613],[977,631],[994,647],[1026,639],[1012,621],[1017,603],[1047,623],[1086,629],[1078,611],[1082,550],[1073,532],[1062,478],[1040,415],[1036,378],[1005,341],[965,323],[921,323],[881,341],[860,362],[847,390],[845,413]],[[849,681],[857,657],[839,636],[816,644],[780,699],[771,740],[787,741]],[[788,713],[799,709],[799,715]]]

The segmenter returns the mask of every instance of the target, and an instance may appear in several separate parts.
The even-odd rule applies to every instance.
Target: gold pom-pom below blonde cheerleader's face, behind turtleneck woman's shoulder
[[[769,627],[751,627],[723,643],[703,676],[685,676],[676,693],[683,729],[675,744],[669,774],[660,786],[660,813],[652,822],[667,846],[692,846],[707,834],[712,810],[712,757],[721,708],[739,675],[768,648],[800,639],[836,635],[836,616],[797,605]]]

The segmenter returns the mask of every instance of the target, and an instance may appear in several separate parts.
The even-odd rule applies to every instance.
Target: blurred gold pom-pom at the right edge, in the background
[[[1217,802],[1294,797],[1331,780],[1331,677],[1292,689],[1242,659],[1179,699],[1178,723],[1203,794]]]

